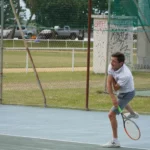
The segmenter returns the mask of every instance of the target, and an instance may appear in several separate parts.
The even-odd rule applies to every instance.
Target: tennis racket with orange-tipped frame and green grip
[[[128,135],[128,137],[130,137],[132,140],[138,140],[141,137],[141,132],[139,127],[137,126],[137,124],[127,118],[123,113],[121,108],[118,106],[118,110],[122,116],[122,120],[123,120],[123,126],[124,126],[124,130],[126,132],[126,134]]]

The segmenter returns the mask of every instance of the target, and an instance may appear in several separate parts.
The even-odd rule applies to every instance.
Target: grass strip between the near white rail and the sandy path
[[[4,68],[25,68],[26,51],[4,51]],[[72,51],[31,51],[31,55],[37,68],[72,67]],[[87,52],[75,51],[75,67],[85,67]],[[92,53],[91,63],[92,66]],[[29,60],[29,68],[32,65]]]

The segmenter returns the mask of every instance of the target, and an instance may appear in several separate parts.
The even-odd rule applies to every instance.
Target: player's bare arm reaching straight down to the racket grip
[[[108,75],[107,77],[107,91],[112,99],[112,103],[114,106],[118,106],[118,102],[117,102],[117,99],[113,93],[113,88],[112,88],[112,85],[113,85],[113,76],[112,75]]]

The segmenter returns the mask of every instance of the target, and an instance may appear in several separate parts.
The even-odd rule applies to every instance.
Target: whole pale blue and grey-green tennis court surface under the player
[[[0,105],[0,150],[106,150],[101,145],[112,137],[107,114]],[[120,149],[150,150],[150,115],[135,120],[141,130],[138,141],[127,137],[121,116],[117,119]]]

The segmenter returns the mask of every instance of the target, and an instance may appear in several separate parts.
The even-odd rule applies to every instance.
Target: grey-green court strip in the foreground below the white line
[[[0,135],[1,150],[108,150],[100,145]],[[120,148],[121,150],[139,150]],[[111,148],[116,150],[116,148]]]

